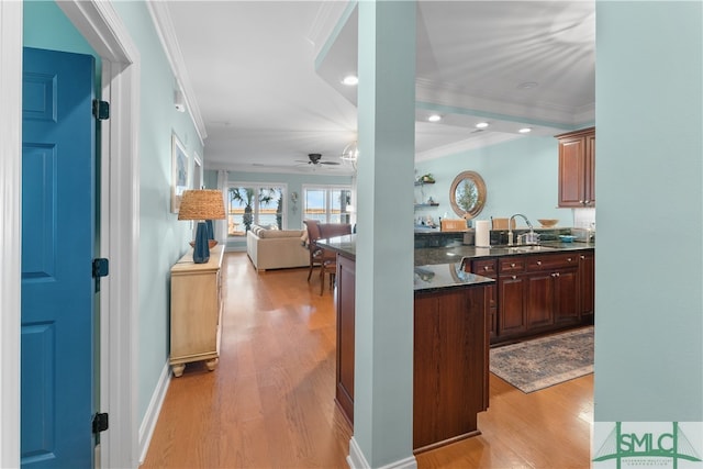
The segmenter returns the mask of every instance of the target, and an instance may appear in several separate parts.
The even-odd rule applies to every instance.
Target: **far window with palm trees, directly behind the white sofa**
[[[234,183],[227,188],[227,235],[245,236],[253,224],[286,226],[281,185]]]

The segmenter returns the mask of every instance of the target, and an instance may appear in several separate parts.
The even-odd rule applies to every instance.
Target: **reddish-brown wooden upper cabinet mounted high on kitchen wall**
[[[595,127],[557,135],[559,206],[595,206]]]

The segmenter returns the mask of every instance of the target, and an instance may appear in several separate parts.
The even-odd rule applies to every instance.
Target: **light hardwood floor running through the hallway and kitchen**
[[[224,259],[220,364],[171,379],[143,468],[347,468],[334,404],[335,315],[308,269],[257,275]],[[417,467],[588,468],[593,377],[524,394],[491,375],[481,435],[417,455]]]

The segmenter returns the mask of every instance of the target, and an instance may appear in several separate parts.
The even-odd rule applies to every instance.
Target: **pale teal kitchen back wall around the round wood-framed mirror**
[[[524,213],[535,226],[539,226],[537,219],[557,219],[559,226],[573,226],[571,209],[557,208],[558,165],[558,144],[554,137],[518,137],[420,161],[415,165],[416,175],[432,172],[436,183],[416,187],[415,200],[421,203],[432,197],[439,206],[420,208],[415,217],[431,215],[435,222],[445,213],[458,217],[449,204],[449,188],[459,172],[471,170],[481,175],[487,189],[486,206],[476,220]],[[517,222],[523,223],[520,219]]]

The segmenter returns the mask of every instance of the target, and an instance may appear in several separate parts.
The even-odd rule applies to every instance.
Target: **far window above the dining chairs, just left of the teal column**
[[[352,188],[303,187],[303,219],[321,223],[350,223]]]

